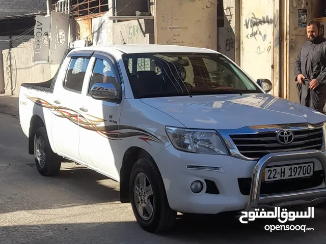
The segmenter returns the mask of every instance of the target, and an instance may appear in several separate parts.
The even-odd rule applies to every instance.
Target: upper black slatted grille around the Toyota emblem
[[[266,154],[294,150],[316,149],[322,147],[322,129],[292,131],[294,140],[289,145],[282,145],[276,140],[276,132],[258,134],[230,135],[240,154],[252,159],[259,159]]]

